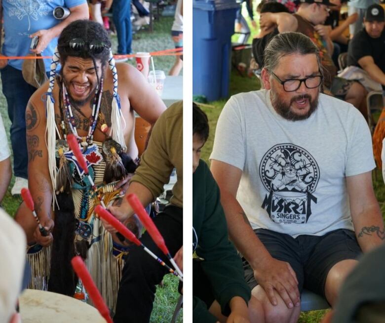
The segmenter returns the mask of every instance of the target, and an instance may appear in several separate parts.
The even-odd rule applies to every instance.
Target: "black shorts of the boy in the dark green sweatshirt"
[[[200,298],[210,308],[215,301],[213,288],[206,274],[203,272],[199,258],[192,259],[192,295]]]

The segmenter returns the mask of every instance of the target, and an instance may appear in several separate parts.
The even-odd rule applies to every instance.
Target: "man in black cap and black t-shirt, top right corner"
[[[364,28],[349,43],[347,64],[357,66],[385,90],[385,15],[379,4],[368,7]]]

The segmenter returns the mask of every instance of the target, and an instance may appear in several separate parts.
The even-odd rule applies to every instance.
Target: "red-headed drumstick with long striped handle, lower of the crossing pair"
[[[150,249],[148,249],[138,238],[135,237],[135,235],[126,228],[118,219],[116,219],[115,216],[113,216],[108,210],[104,209],[102,206],[97,205],[95,207],[95,212],[99,214],[99,216],[108,223],[110,223],[117,231],[119,231],[125,238],[127,238],[129,241],[134,242],[136,245],[141,246],[148,254],[150,254],[159,264],[166,267],[167,270],[177,276],[181,282],[183,282],[183,278],[178,275],[178,273],[174,270],[172,270],[169,266],[167,266],[163,260],[161,260],[159,257],[157,257]]]

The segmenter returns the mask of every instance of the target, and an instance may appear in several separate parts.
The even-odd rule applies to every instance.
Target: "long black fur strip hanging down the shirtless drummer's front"
[[[71,259],[75,256],[75,207],[71,194],[60,193],[56,198],[60,210],[55,205],[48,291],[72,297],[77,285],[77,276],[71,266]]]

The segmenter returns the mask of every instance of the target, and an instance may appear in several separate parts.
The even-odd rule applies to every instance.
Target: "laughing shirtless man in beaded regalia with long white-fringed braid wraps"
[[[124,251],[124,243],[103,229],[93,209],[101,199],[107,206],[119,203],[116,198],[128,187],[128,173],[135,167],[125,170],[123,165],[133,166],[138,159],[134,113],[153,124],[165,106],[139,71],[124,63],[115,66],[110,47],[107,32],[96,22],[78,20],[61,33],[50,79],[34,93],[26,110],[31,121],[29,189],[48,235],[41,235],[24,203],[15,218],[28,243],[43,246],[29,255],[33,287],[45,287],[40,278],[50,269],[48,290],[74,295],[79,286],[70,259],[80,254],[108,306],[114,308],[122,262],[121,256],[112,254]],[[59,63],[62,68],[56,77]],[[66,143],[70,133],[77,137],[95,186],[84,178]],[[126,225],[139,234],[135,219]]]

